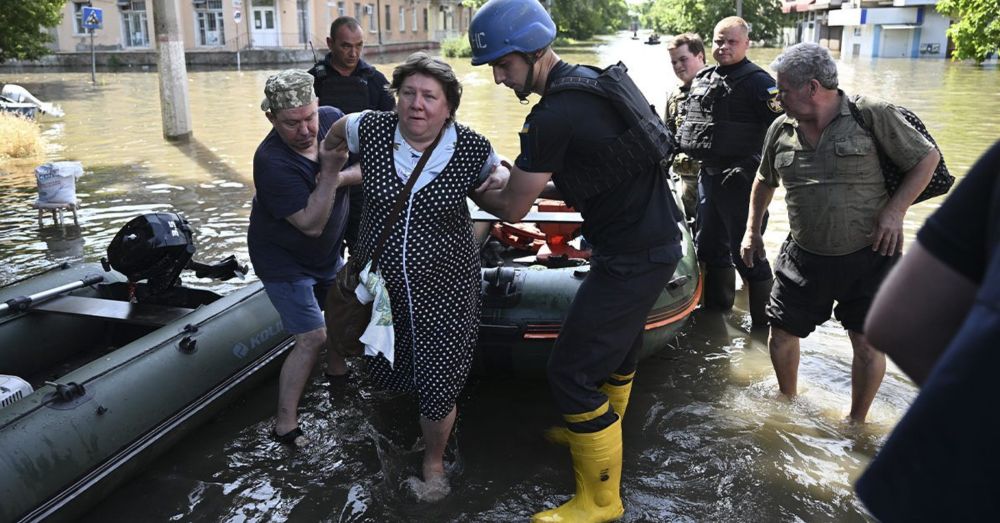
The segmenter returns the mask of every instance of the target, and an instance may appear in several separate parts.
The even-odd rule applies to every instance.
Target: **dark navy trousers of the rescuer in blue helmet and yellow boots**
[[[564,416],[598,411],[608,402],[598,388],[612,374],[635,371],[646,317],[673,276],[680,246],[591,257],[590,273],[570,305],[549,357],[547,375],[556,408]],[[617,414],[568,422],[574,432],[596,432]]]

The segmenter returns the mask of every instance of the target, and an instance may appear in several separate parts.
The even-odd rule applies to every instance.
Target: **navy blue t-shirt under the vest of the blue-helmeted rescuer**
[[[576,66],[559,62],[548,84],[571,75]],[[521,154],[515,163],[528,172],[570,173],[589,153],[602,150],[628,129],[607,99],[579,90],[546,94],[531,109],[521,129]],[[655,171],[655,172],[654,172]],[[600,254],[638,252],[670,245],[680,258],[682,221],[667,179],[654,166],[586,201],[583,236]]]

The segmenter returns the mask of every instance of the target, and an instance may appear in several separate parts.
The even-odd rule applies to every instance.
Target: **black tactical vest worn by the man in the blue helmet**
[[[556,173],[553,181],[566,203],[582,211],[583,203],[639,174],[660,172],[661,162],[673,156],[673,136],[642,91],[618,62],[606,69],[577,66],[574,74],[556,78],[545,94],[576,89],[610,101],[628,129],[603,149],[574,158],[572,169]]]

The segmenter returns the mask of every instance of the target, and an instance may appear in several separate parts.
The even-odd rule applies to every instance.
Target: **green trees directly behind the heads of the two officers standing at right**
[[[664,34],[693,31],[701,35],[706,46],[711,46],[715,24],[735,14],[735,0],[646,0],[642,24]],[[785,18],[780,0],[743,0],[743,19],[750,24],[751,40],[776,40]]]

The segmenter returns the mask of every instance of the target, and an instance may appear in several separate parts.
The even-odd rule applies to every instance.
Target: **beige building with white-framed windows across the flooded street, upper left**
[[[89,53],[91,35],[83,8],[103,12],[94,31],[99,53],[153,52],[154,0],[69,0],[62,23],[51,30],[52,49]],[[156,0],[159,1],[159,0]],[[319,55],[326,49],[330,23],[353,16],[367,31],[371,51],[436,47],[468,30],[471,9],[460,0],[175,0],[184,47],[199,52],[300,50]],[[197,60],[194,60],[197,61]]]

